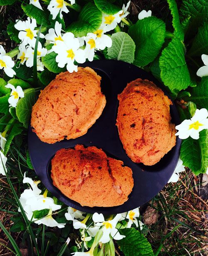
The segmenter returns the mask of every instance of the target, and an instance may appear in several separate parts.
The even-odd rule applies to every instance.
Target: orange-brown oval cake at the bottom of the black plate
[[[134,186],[131,169],[96,147],[61,149],[51,165],[54,186],[82,206],[121,205]]]

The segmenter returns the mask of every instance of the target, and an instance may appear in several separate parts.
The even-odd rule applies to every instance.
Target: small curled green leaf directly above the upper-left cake
[[[66,68],[59,68],[58,63],[56,62],[57,53],[51,52],[45,57],[42,57],[43,65],[53,73],[61,73],[66,71]]]

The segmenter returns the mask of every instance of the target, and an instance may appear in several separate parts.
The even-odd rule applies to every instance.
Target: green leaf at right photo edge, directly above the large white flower
[[[208,108],[208,76],[201,78],[201,82],[190,91],[191,96],[184,98],[193,101],[198,108]]]

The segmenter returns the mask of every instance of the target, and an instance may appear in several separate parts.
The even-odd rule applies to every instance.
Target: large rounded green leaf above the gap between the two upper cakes
[[[129,35],[136,44],[135,65],[146,66],[157,57],[165,40],[165,32],[165,23],[156,17],[138,20],[129,28]]]

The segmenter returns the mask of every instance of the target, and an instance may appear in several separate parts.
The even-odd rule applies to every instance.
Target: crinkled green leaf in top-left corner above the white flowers
[[[49,26],[49,12],[42,11],[39,8],[35,7],[34,5],[21,5],[22,10],[24,13],[27,14],[28,17],[34,18],[39,25],[43,25],[45,27]]]

